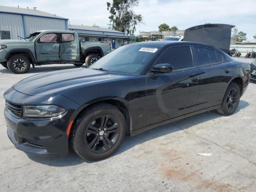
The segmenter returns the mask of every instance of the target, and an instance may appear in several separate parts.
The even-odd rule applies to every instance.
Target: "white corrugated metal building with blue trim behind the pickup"
[[[0,39],[24,38],[38,30],[68,30],[68,19],[36,8],[0,6]]]

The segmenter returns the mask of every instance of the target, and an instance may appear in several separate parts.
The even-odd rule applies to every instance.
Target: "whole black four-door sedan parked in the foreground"
[[[250,65],[203,43],[122,46],[89,68],[38,74],[4,93],[8,136],[24,152],[82,158],[112,155],[125,135],[194,114],[231,115]]]

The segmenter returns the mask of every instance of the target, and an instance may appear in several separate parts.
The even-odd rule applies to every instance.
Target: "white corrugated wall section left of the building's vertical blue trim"
[[[10,31],[11,39],[23,37],[22,16],[16,14],[0,13],[0,30]]]

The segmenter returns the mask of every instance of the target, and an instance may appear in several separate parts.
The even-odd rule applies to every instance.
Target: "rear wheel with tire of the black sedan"
[[[238,84],[234,82],[230,83],[224,94],[221,107],[217,109],[217,112],[226,116],[233,114],[238,107],[240,96],[241,93]]]

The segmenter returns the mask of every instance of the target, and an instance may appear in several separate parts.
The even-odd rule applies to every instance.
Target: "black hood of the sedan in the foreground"
[[[42,73],[26,78],[13,88],[21,93],[37,96],[46,94],[65,95],[67,90],[101,84],[126,78],[129,75],[92,70],[89,68],[67,69]]]

